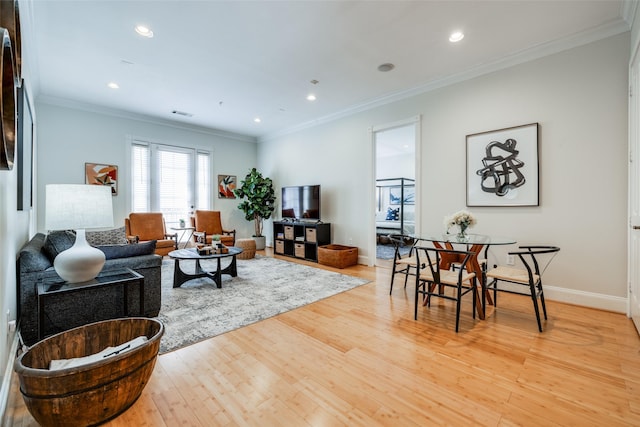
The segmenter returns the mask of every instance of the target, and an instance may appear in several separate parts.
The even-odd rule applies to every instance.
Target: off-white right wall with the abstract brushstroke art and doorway
[[[546,272],[547,297],[624,312],[629,37],[624,33],[263,141],[260,167],[279,187],[321,184],[322,217],[333,223],[333,241],[352,239],[370,257],[368,129],[421,115],[422,230],[440,232],[442,218],[465,207],[465,136],[538,122],[540,206],[473,208],[473,231],[560,246]],[[504,262],[504,248],[492,254],[491,262]]]

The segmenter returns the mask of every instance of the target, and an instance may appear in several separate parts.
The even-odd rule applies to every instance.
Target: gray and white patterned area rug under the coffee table
[[[222,261],[222,267],[228,265]],[[174,261],[162,262],[162,308],[165,325],[160,353],[258,322],[314,301],[353,289],[368,280],[268,257],[238,260],[238,276],[223,275],[218,289],[208,278],[173,288]],[[182,262],[193,272],[195,262]],[[192,269],[189,270],[189,267]],[[204,260],[205,270],[215,263]]]

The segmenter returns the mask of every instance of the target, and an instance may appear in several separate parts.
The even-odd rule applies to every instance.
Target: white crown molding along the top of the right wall
[[[636,2],[633,1],[633,3],[635,4]],[[624,7],[625,4],[626,2],[623,3],[621,7]],[[633,10],[635,11],[635,9]],[[629,13],[630,11],[631,9],[626,12]],[[356,113],[371,110],[373,108],[377,108],[393,102],[401,101],[407,98],[411,98],[417,95],[431,92],[436,89],[443,88],[445,86],[451,86],[456,83],[460,83],[466,80],[471,80],[473,78],[490,74],[496,71],[504,70],[506,68],[510,68],[519,64],[544,58],[545,56],[553,55],[559,52],[563,52],[565,50],[569,50],[569,49],[573,49],[589,43],[593,43],[598,40],[613,37],[618,34],[627,32],[629,30],[630,30],[630,25],[628,21],[626,19],[619,18],[594,29],[576,33],[576,34],[564,37],[562,39],[554,40],[551,42],[542,43],[537,46],[533,46],[529,49],[516,52],[512,55],[505,56],[496,61],[491,61],[485,64],[479,64],[461,73],[456,73],[440,79],[432,80],[424,85],[421,85],[409,90],[394,92],[386,96],[372,99],[368,102],[355,105],[345,110],[341,110],[333,114],[329,114],[305,123],[301,123],[297,126],[283,129],[281,131],[274,132],[271,134],[259,136],[257,138],[257,141],[259,143],[266,142],[281,136],[300,132],[302,130],[309,129],[321,124],[329,123],[338,119],[342,119],[344,117],[348,117]]]

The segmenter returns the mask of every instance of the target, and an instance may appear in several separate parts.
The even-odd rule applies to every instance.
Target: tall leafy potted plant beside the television
[[[239,199],[245,199],[238,205],[238,209],[244,212],[247,221],[254,221],[256,249],[264,249],[265,237],[262,235],[262,224],[265,219],[271,218],[275,210],[276,193],[273,189],[271,178],[265,178],[256,168],[240,181],[240,187],[233,190],[233,194]]]

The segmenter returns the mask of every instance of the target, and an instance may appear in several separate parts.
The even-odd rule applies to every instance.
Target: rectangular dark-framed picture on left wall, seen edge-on
[[[18,210],[26,211],[33,206],[33,115],[24,81],[16,91],[17,102],[17,153]]]

